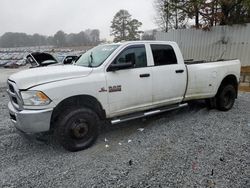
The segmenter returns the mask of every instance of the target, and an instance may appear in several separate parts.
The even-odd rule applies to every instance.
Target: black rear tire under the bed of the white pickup
[[[230,110],[235,102],[236,90],[232,85],[225,85],[222,87],[216,97],[217,108],[221,111]]]

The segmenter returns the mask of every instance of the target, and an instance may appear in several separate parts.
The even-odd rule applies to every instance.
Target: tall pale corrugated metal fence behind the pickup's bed
[[[242,66],[250,66],[250,24],[158,32],[156,40],[177,42],[184,59],[240,59]]]

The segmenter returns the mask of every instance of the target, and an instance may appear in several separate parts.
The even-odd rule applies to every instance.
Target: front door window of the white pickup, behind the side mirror
[[[147,67],[147,56],[145,46],[129,47],[116,58],[115,64],[132,63],[132,67]]]

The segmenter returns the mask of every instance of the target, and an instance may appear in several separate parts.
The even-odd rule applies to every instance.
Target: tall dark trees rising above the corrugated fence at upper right
[[[155,0],[158,26],[169,29],[210,29],[215,25],[250,22],[250,0]]]

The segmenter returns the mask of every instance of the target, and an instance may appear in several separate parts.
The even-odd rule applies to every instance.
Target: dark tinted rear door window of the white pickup
[[[174,49],[170,45],[151,44],[155,66],[177,64]]]

